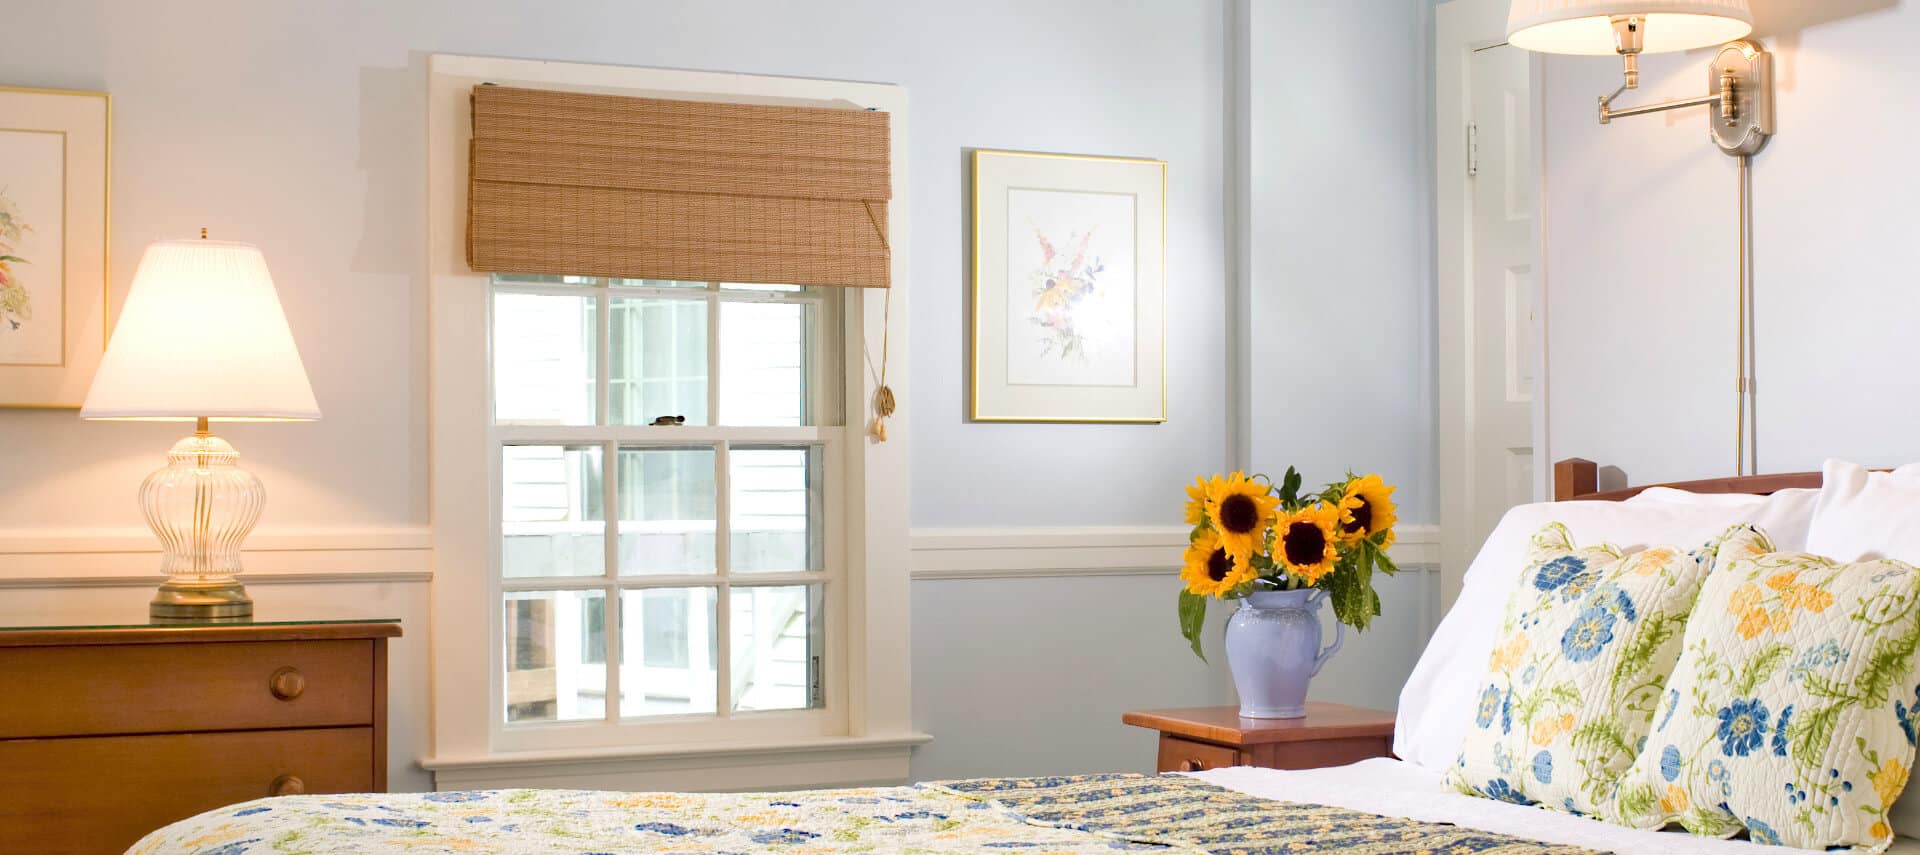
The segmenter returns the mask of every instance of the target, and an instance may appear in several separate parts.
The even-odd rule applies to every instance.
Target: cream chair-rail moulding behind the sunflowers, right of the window
[[[1187,526],[916,528],[916,580],[1160,576],[1179,573]],[[1438,526],[1402,526],[1390,555],[1407,571],[1434,573]]]

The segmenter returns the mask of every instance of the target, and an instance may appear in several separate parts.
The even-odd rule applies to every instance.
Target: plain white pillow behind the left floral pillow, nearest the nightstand
[[[1668,490],[1678,492],[1678,490]],[[1505,619],[1507,598],[1526,571],[1526,550],[1534,532],[1561,523],[1580,544],[1617,544],[1624,551],[1647,546],[1699,546],[1736,523],[1757,519],[1784,530],[1807,530],[1809,490],[1786,490],[1778,498],[1697,496],[1661,501],[1540,501],[1519,505],[1494,526],[1480,553],[1467,567],[1459,599],[1448,611],[1432,640],[1413,665],[1394,719],[1394,753],[1409,763],[1444,772],[1453,765],[1459,744],[1473,724],[1475,690],[1494,653],[1494,636]],[[1757,501],[1753,501],[1757,500]]]

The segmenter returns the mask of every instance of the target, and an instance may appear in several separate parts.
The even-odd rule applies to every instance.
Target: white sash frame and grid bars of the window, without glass
[[[574,277],[564,277],[574,279]],[[751,286],[749,286],[751,288]],[[843,550],[841,544],[845,523],[841,519],[845,500],[841,496],[839,478],[843,478],[845,467],[841,463],[845,427],[835,425],[806,425],[806,427],[758,427],[758,425],[718,425],[724,417],[720,411],[720,384],[722,384],[722,359],[720,359],[720,334],[722,334],[722,304],[799,304],[812,311],[812,323],[804,327],[803,354],[803,377],[804,377],[804,398],[803,398],[803,423],[810,421],[829,421],[841,411],[839,392],[841,377],[829,377],[829,367],[839,365],[837,361],[837,329],[841,323],[839,300],[829,298],[822,292],[764,292],[764,290],[739,290],[733,286],[720,286],[718,282],[708,282],[707,288],[687,288],[687,286],[612,286],[599,284],[595,281],[584,282],[524,282],[524,281],[497,281],[492,284],[493,294],[553,294],[553,296],[576,296],[591,298],[593,304],[593,342],[595,359],[593,373],[588,382],[593,384],[595,398],[595,425],[501,425],[493,419],[493,394],[495,380],[492,377],[492,363],[488,365],[488,434],[490,446],[495,457],[507,446],[599,446],[601,448],[601,494],[599,503],[605,513],[603,521],[591,525],[603,525],[605,540],[605,569],[601,574],[591,576],[513,576],[503,578],[501,550],[505,528],[499,521],[501,503],[493,501],[493,536],[490,538],[492,550],[492,599],[493,609],[499,609],[507,594],[513,592],[547,592],[547,590],[599,590],[603,592],[601,607],[605,626],[609,634],[605,636],[605,657],[599,667],[605,669],[605,717],[601,721],[528,721],[528,722],[509,722],[507,721],[507,697],[503,692],[495,692],[490,699],[490,719],[493,722],[495,742],[501,747],[513,749],[520,747],[547,747],[551,740],[591,744],[595,738],[591,730],[630,734],[626,740],[651,742],[651,736],[659,740],[672,740],[682,734],[701,734],[705,730],[724,728],[728,736],[753,738],[753,736],[828,736],[833,732],[845,732],[847,726],[847,674],[843,653],[845,646],[845,607],[847,592],[843,582]],[[611,359],[611,338],[614,298],[651,298],[651,300],[676,300],[676,302],[705,302],[707,304],[707,413],[708,421],[716,425],[680,425],[680,427],[653,427],[653,425],[612,425],[612,359]],[[490,311],[493,305],[492,294],[488,300]],[[488,325],[488,334],[492,336],[493,325]],[[628,380],[639,382],[639,380]],[[678,415],[678,413],[674,413]],[[791,571],[791,573],[733,573],[730,563],[732,550],[732,488],[730,488],[730,450],[733,446],[751,448],[810,448],[816,455],[810,461],[810,469],[820,475],[818,492],[808,490],[808,501],[818,501],[818,509],[810,509],[810,523],[818,523],[820,530],[808,528],[810,538],[820,538],[824,551],[824,565],[818,571]],[[714,450],[714,573],[691,573],[691,574],[634,574],[620,576],[620,557],[618,557],[618,525],[622,513],[618,496],[618,473],[620,473],[620,450],[645,450],[645,448],[712,448]],[[497,469],[497,467],[495,467]],[[503,490],[503,475],[495,473],[495,490]],[[818,511],[818,513],[812,513]],[[826,638],[824,638],[824,661],[818,669],[808,665],[808,699],[818,699],[820,707],[812,709],[787,709],[787,711],[733,711],[737,703],[733,696],[732,678],[732,596],[733,588],[770,588],[770,586],[793,586],[793,584],[816,584],[820,586],[820,603],[826,609]],[[695,715],[659,715],[659,717],[622,717],[620,715],[620,672],[624,671],[622,644],[612,628],[622,626],[620,592],[628,590],[659,590],[659,588],[712,588],[716,592],[716,638],[720,655],[714,661],[716,669],[716,703],[712,713]],[[505,655],[503,636],[493,638],[493,647],[490,659],[495,661],[493,669],[505,678],[507,663],[499,657]],[[580,663],[588,665],[588,663]],[[822,692],[824,688],[824,692]],[[753,724],[753,726],[749,726]],[[605,738],[605,734],[603,734]]]

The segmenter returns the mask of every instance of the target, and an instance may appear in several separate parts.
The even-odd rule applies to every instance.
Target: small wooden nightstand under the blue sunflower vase
[[[1238,707],[1146,709],[1119,721],[1160,730],[1162,772],[1321,769],[1390,757],[1394,713],[1308,703],[1306,719],[1240,719]]]

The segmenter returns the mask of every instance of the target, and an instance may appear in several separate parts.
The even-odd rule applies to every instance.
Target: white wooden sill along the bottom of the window
[[[426,757],[436,790],[804,790],[897,784],[927,734]]]

